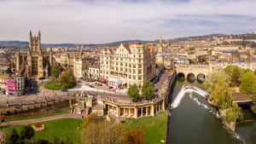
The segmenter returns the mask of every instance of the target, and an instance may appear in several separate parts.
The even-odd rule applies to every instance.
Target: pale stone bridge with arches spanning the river
[[[190,75],[194,78],[198,76],[206,77],[212,68],[209,65],[176,65],[177,76],[183,75],[184,78],[188,78]]]

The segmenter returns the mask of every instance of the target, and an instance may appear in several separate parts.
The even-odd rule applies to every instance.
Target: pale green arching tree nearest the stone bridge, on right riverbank
[[[204,88],[211,93],[215,84],[218,83],[219,78],[224,79],[224,82],[227,84],[231,83],[231,78],[228,74],[226,74],[222,69],[215,69],[207,75],[206,81],[203,84]]]

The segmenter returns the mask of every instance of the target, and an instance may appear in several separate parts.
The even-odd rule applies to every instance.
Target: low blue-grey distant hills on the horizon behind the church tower
[[[96,47],[96,46],[111,46],[111,45],[116,45],[120,43],[148,43],[150,41],[142,41],[142,40],[125,40],[125,41],[118,41],[118,42],[111,42],[111,43],[89,43],[89,44],[84,44],[84,43],[42,43],[42,47],[76,47],[77,45],[79,46],[84,46],[84,47]],[[20,47],[20,48],[27,48],[28,47],[28,42],[22,42],[22,41],[0,41],[0,48],[15,48],[15,47]]]

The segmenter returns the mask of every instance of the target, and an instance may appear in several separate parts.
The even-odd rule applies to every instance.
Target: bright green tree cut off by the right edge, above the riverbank
[[[241,76],[239,91],[250,94],[256,92],[256,76],[253,72],[246,72]]]

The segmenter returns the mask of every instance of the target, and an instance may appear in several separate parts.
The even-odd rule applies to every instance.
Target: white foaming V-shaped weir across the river
[[[177,108],[180,102],[183,100],[183,96],[188,92],[195,92],[203,97],[207,97],[209,93],[204,89],[198,88],[194,85],[184,84],[182,89],[179,90],[175,99],[172,101],[171,109]]]

